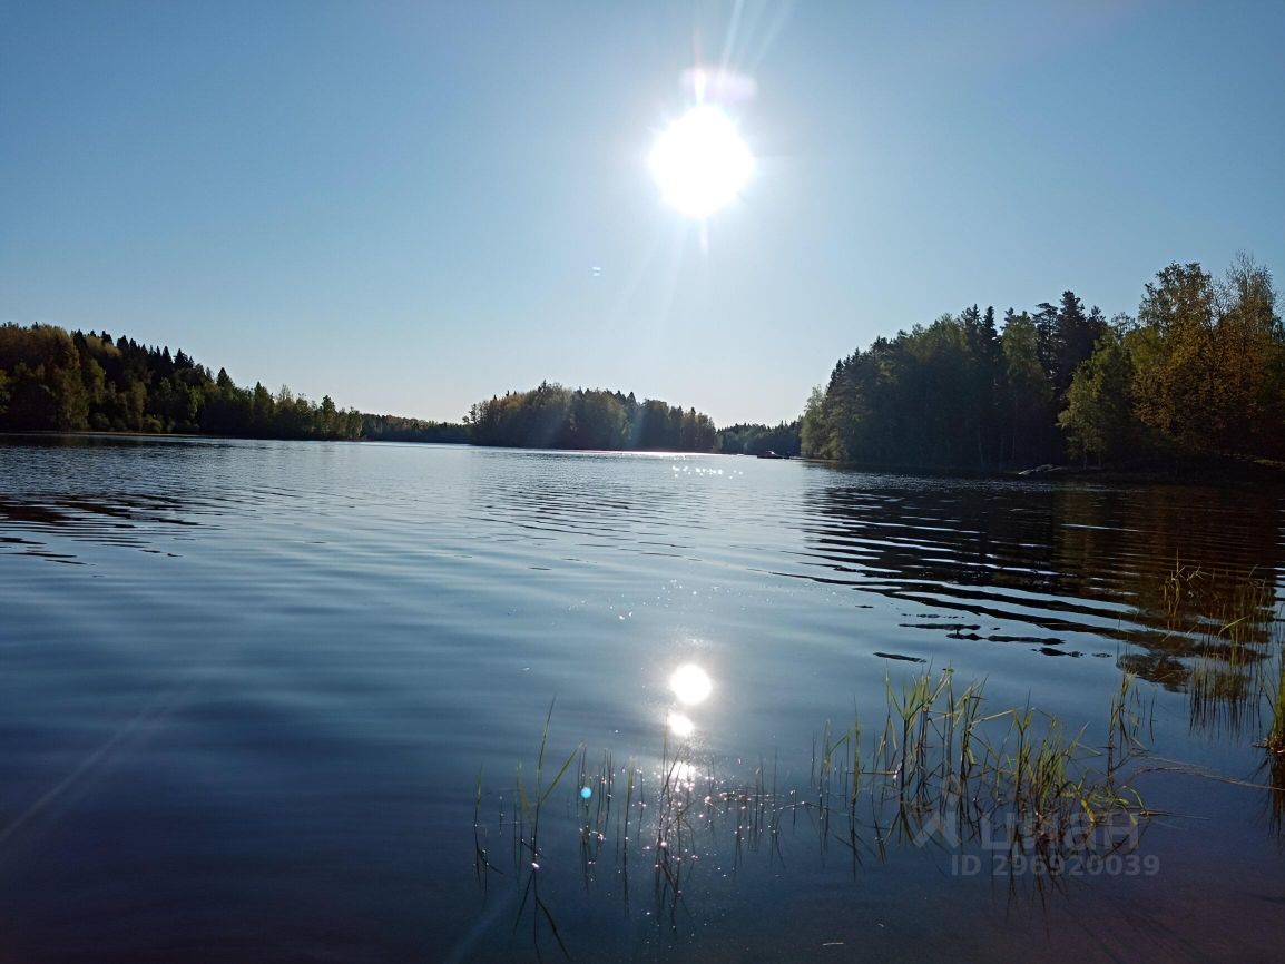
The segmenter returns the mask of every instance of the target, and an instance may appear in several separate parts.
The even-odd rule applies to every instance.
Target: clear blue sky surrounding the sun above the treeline
[[[421,418],[776,422],[974,302],[1285,274],[1282,58],[1272,0],[0,0],[0,321]],[[757,85],[704,243],[648,167],[698,59]]]

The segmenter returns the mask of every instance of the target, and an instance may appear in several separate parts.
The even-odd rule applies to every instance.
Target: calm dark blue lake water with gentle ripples
[[[1280,960],[1254,743],[1281,509],[731,456],[0,438],[0,961]],[[712,689],[678,706],[689,663]],[[944,667],[1094,747],[1137,675],[1133,785],[1162,812],[1133,864],[1051,880],[820,824],[826,720],[856,706],[873,743],[885,679]],[[544,784],[581,743],[585,772],[532,861],[514,785],[555,698]],[[793,808],[766,841],[700,829],[673,901],[618,821],[634,770],[654,832],[677,744]]]

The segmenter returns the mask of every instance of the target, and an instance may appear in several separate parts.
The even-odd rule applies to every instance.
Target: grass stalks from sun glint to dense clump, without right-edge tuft
[[[765,842],[770,861],[783,861],[783,829],[811,826],[822,860],[831,843],[846,848],[852,874],[866,859],[885,861],[893,846],[957,852],[1002,846],[1050,861],[1073,853],[1136,846],[1150,817],[1132,787],[1128,763],[1145,752],[1150,726],[1146,702],[1131,676],[1122,677],[1108,707],[1105,743],[1087,743],[1087,727],[1072,731],[1032,703],[995,708],[984,680],[959,688],[953,671],[924,670],[897,684],[885,677],[882,727],[869,731],[853,706],[852,724],[837,730],[828,720],[812,736],[810,787],[783,788],[777,754],[765,756],[743,783],[716,774],[712,757],[698,757],[689,742],[662,738],[659,766],[603,752],[595,762],[583,744],[545,781],[553,706],[545,719],[535,765],[535,788],[519,766],[515,806],[500,832],[515,838],[523,893],[514,927],[532,906],[532,937],[547,927],[567,949],[540,892],[546,862],[542,833],[554,790],[568,772],[576,788],[565,814],[576,828],[586,888],[616,882],[628,905],[631,875],[651,878],[657,924],[677,928],[694,875],[713,862],[739,874]],[[576,763],[574,771],[572,765]],[[616,799],[623,784],[623,805]],[[651,793],[648,793],[648,788]],[[585,788],[592,790],[586,798]],[[474,793],[481,825],[482,775]],[[788,819],[788,821],[786,821]],[[560,823],[560,826],[567,823]],[[545,828],[546,829],[546,828]],[[613,850],[604,847],[614,835]],[[479,874],[491,866],[484,835],[475,839]],[[562,844],[558,847],[562,852]],[[607,860],[612,873],[599,868]]]

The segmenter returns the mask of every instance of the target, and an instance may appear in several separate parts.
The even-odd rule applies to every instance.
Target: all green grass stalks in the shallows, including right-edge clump
[[[1263,580],[1228,578],[1178,567],[1164,587],[1165,605],[1173,632],[1182,636],[1177,652],[1186,661],[1192,727],[1236,729],[1255,712],[1270,719],[1263,738],[1270,778],[1253,785],[1272,789],[1279,826],[1285,817],[1285,670],[1280,625],[1268,618],[1273,590]],[[1217,613],[1216,600],[1222,605]],[[1194,609],[1203,616],[1191,621]],[[1133,674],[1121,674],[1105,719],[1078,729],[1031,698],[996,704],[984,679],[965,683],[948,666],[897,679],[885,674],[882,702],[861,707],[873,712],[870,720],[853,704],[851,722],[828,719],[812,734],[806,787],[789,785],[790,771],[783,772],[776,751],[771,765],[766,756],[747,761],[740,776],[716,772],[712,757],[668,727],[658,765],[653,757],[622,766],[609,751],[594,756],[577,744],[550,780],[550,704],[533,788],[519,766],[508,820],[500,798],[499,832],[515,838],[523,888],[514,927],[529,907],[537,954],[541,934],[551,934],[567,954],[540,880],[549,866],[574,866],[564,851],[576,842],[587,891],[614,889],[628,906],[636,892],[631,878],[642,874],[650,882],[653,920],[675,933],[694,913],[690,895],[712,878],[705,868],[735,878],[759,851],[765,853],[758,860],[768,866],[784,865],[786,833],[804,841],[813,833],[820,859],[842,852],[853,877],[867,861],[883,862],[911,847],[952,855],[1001,848],[1056,868],[1074,855],[1140,846],[1154,811],[1136,781],[1149,770],[1168,767],[1148,765],[1155,690],[1140,686]],[[879,713],[883,720],[875,722]],[[550,811],[555,790],[572,781],[568,774],[574,792],[565,806],[559,802]],[[479,772],[474,850],[484,889],[496,842],[488,839],[490,828],[482,828],[483,803]],[[565,819],[549,824],[563,812]],[[568,839],[562,828],[574,828],[576,835]],[[554,837],[546,851],[547,834]],[[607,846],[613,837],[614,847]],[[1033,887],[1042,895],[1046,883],[1034,880]]]

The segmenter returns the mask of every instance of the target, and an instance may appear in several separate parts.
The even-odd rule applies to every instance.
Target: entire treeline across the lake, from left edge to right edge
[[[0,326],[0,431],[804,455],[883,468],[1285,459],[1285,330],[1270,272],[1169,265],[1137,316],[1070,290],[1033,311],[965,308],[842,359],[799,419],[717,429],[694,407],[542,383],[463,422],[338,409],[236,386],[184,351],[54,325]]]

